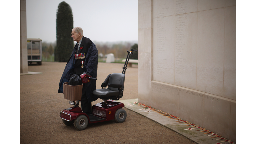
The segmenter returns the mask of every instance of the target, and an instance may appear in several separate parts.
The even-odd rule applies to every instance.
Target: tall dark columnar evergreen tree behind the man
[[[57,45],[54,50],[54,61],[67,62],[74,48],[74,41],[71,38],[73,14],[69,4],[61,2],[56,17]]]

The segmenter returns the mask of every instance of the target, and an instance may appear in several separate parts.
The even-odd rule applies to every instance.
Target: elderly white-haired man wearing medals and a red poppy
[[[72,29],[71,37],[76,41],[71,57],[69,58],[62,77],[58,93],[63,93],[63,83],[68,82],[72,74],[82,74],[84,72],[92,77],[97,77],[98,68],[98,50],[95,44],[83,36],[83,30],[80,27]],[[84,113],[92,113],[92,101],[98,98],[92,93],[96,89],[96,81],[91,81],[83,85],[81,108]]]

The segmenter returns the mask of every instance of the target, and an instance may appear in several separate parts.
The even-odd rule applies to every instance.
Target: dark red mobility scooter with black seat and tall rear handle
[[[84,130],[88,123],[97,123],[103,121],[114,120],[118,123],[122,123],[126,119],[126,111],[122,109],[124,104],[116,102],[123,96],[124,91],[124,79],[125,71],[127,68],[130,55],[132,51],[138,51],[131,49],[127,51],[126,61],[123,67],[122,73],[109,74],[105,81],[101,84],[101,89],[96,89],[93,94],[98,98],[102,99],[101,103],[92,106],[92,114],[83,113],[79,107],[79,101],[69,101],[69,104],[74,105],[73,107],[64,109],[60,112],[60,118],[63,123],[67,126],[74,124],[77,130]],[[82,82],[90,82],[91,80],[97,80],[96,78],[83,73],[80,75]],[[63,88],[65,84],[63,84]],[[108,86],[108,88],[106,88]],[[64,90],[65,97],[65,90]]]

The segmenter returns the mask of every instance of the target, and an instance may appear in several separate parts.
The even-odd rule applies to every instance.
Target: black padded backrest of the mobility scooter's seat
[[[112,73],[109,77],[108,83],[109,84],[121,84],[122,85],[122,89],[124,89],[124,78],[125,75],[122,73]],[[112,91],[119,91],[118,88],[113,88],[113,87],[109,87],[108,89],[112,90]]]

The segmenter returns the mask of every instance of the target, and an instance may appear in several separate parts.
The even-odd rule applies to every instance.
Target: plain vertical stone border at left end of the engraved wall
[[[138,1],[138,90],[139,100],[151,104],[151,81],[153,72],[153,1]]]

